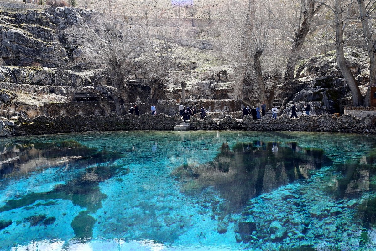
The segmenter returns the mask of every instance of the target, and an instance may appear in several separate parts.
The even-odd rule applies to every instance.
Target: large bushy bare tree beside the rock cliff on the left
[[[73,43],[86,47],[86,60],[104,68],[112,87],[116,89],[114,103],[121,115],[120,100],[129,102],[126,78],[131,74],[138,48],[138,33],[127,23],[108,16],[98,17],[90,25],[83,24],[69,31]]]

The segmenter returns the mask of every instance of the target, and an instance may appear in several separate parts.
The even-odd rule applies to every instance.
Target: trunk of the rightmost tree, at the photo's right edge
[[[369,16],[365,9],[364,0],[358,0],[359,14],[362,22],[363,37],[370,57],[370,82],[368,84],[367,94],[365,95],[364,105],[370,106],[371,85],[376,85],[376,40],[372,41],[371,26],[368,22]]]

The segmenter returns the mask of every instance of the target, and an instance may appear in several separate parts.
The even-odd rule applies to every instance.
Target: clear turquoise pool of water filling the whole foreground
[[[307,132],[1,139],[0,249],[373,250],[375,148]]]

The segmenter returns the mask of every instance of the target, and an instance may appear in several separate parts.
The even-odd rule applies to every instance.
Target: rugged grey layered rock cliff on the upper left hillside
[[[68,43],[61,32],[67,26],[91,20],[98,12],[69,7],[14,13],[0,11],[0,54],[5,65],[64,66],[81,48]]]

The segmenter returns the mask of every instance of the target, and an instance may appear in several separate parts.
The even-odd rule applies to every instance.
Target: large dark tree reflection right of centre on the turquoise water
[[[249,199],[310,176],[310,170],[331,165],[321,149],[299,148],[296,142],[223,143],[214,160],[199,166],[183,165],[174,172],[185,193],[213,186],[235,211]]]

